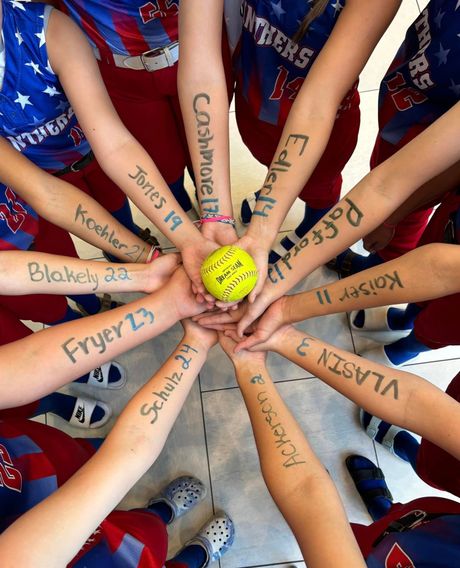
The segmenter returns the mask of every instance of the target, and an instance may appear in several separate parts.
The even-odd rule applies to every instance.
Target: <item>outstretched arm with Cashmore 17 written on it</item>
[[[223,0],[189,0],[180,5],[177,82],[201,213],[231,217],[229,103],[222,62],[223,6]],[[202,232],[220,245],[236,240],[235,230],[228,224],[205,223]]]

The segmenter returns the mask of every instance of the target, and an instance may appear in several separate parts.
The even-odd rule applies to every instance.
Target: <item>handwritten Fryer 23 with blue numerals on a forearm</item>
[[[105,353],[107,346],[113,341],[121,340],[131,332],[139,331],[144,326],[152,325],[155,321],[153,312],[145,308],[139,308],[135,312],[129,312],[124,319],[117,324],[105,327],[92,335],[81,339],[70,337],[61,344],[61,349],[72,363],[94,353]]]

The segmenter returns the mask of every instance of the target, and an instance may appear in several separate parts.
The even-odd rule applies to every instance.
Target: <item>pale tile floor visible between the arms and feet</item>
[[[403,0],[395,22],[362,74],[362,127],[356,152],[344,173],[345,191],[367,172],[377,130],[379,81],[405,29],[425,4],[426,0]],[[233,113],[230,115],[230,129],[233,195],[238,206],[246,193],[260,186],[265,168],[255,162],[241,143]],[[296,204],[283,230],[296,226],[300,211],[300,204]],[[168,245],[164,239],[163,243]],[[86,258],[101,256],[94,247],[81,242],[78,246]],[[300,288],[309,289],[334,278],[336,276],[332,272],[320,268]],[[126,301],[126,296],[123,299]],[[371,341],[352,331],[344,314],[312,319],[300,327],[349,350]],[[161,365],[179,338],[180,328],[175,326],[161,337],[126,353],[119,358],[129,370],[129,382],[124,390],[111,393],[95,389],[92,394],[110,402],[116,415]],[[374,447],[359,427],[356,408],[341,395],[277,356],[270,356],[269,367],[279,383],[282,396],[334,478],[351,521],[370,523],[370,517],[343,465],[344,457],[350,453],[364,454],[377,460],[397,500],[407,501],[416,496],[440,493],[419,480],[407,464],[381,447]],[[460,369],[460,349],[446,348],[425,354],[407,365],[407,369],[445,388]],[[75,386],[68,389],[78,391]],[[81,387],[79,390],[82,390]],[[47,419],[48,423],[64,426],[52,416]],[[68,430],[73,435],[82,434],[80,430]],[[104,431],[100,433],[103,435]],[[223,509],[233,517],[237,530],[233,549],[221,561],[223,568],[303,564],[295,540],[262,481],[242,397],[230,363],[217,347],[210,354],[163,453],[124,499],[122,506],[143,505],[165,482],[183,473],[200,477],[210,491],[205,503],[190,516],[181,519],[170,531],[171,552],[189,538],[213,510]]]

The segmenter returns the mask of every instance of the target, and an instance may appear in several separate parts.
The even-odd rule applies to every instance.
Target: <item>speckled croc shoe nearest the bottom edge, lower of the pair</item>
[[[232,546],[234,539],[235,526],[232,519],[225,513],[219,513],[187,542],[184,549],[189,546],[200,546],[206,552],[206,562],[201,567],[205,568],[211,562],[222,558]]]

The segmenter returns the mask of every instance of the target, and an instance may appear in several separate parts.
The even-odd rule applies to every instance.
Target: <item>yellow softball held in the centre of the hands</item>
[[[227,245],[212,252],[201,265],[206,290],[218,300],[236,302],[257,283],[257,267],[245,250]]]

